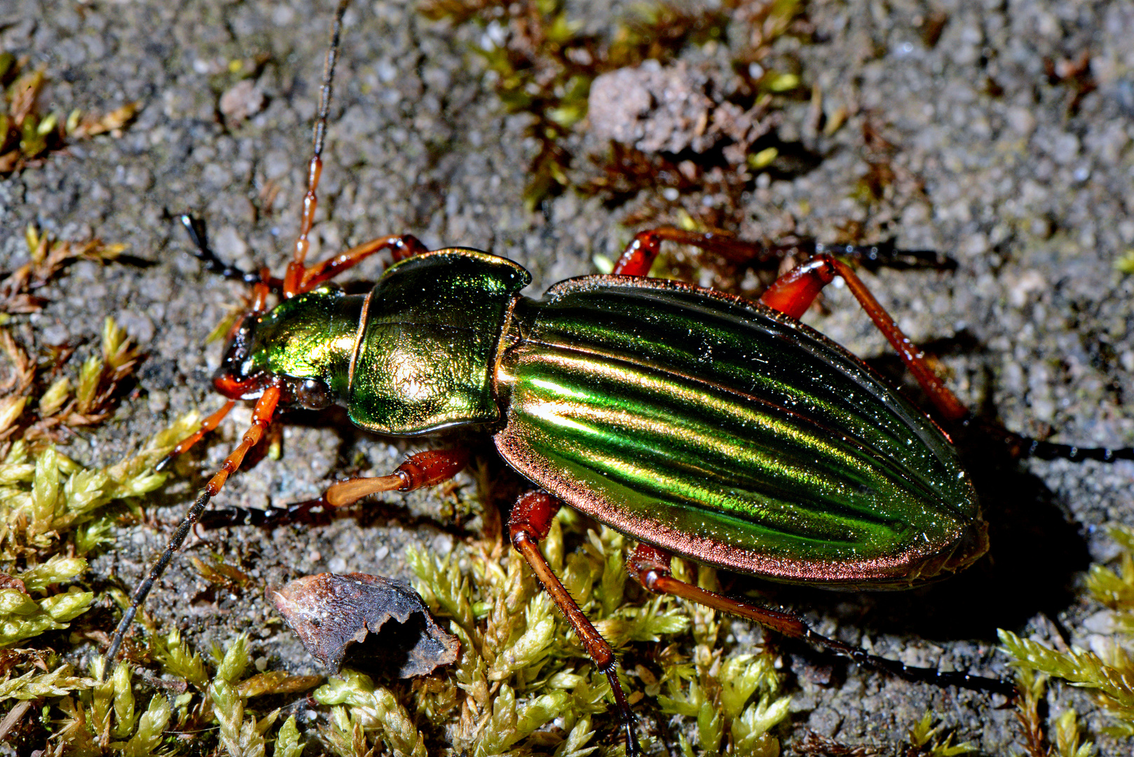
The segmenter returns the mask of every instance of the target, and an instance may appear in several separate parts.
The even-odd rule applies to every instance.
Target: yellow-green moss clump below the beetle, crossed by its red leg
[[[569,554],[565,531],[582,539]],[[542,546],[568,591],[619,650],[619,674],[636,710],[648,709],[637,704],[643,689],[657,697],[660,714],[679,723],[689,755],[778,754],[770,731],[787,716],[787,698],[779,696],[772,655],[723,659],[713,611],[694,608],[691,621],[684,602],[628,602],[627,541],[606,527],[585,530],[583,519],[565,508]],[[618,738],[592,743],[595,731],[618,732],[609,684],[517,553],[492,540],[447,557],[408,552],[407,560],[417,590],[460,639],[460,657],[443,676],[417,679],[408,688],[347,672],[315,691],[316,701],[335,707],[324,737],[336,754],[364,755],[373,741],[403,755],[438,754],[439,745],[448,745],[446,754],[474,757],[623,752]],[[702,571],[702,579],[714,580],[711,571]],[[646,654],[691,630],[693,661],[676,646]],[[640,734],[650,751],[646,722]]]

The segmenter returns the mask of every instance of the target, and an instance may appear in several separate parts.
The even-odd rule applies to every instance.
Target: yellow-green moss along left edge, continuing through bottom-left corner
[[[6,300],[0,303],[16,317],[42,305],[31,291],[71,260],[109,260],[124,249],[99,241],[56,243],[31,227],[26,243],[31,260],[6,279]],[[40,638],[66,629],[95,604],[94,591],[66,584],[83,581],[84,555],[108,540],[115,514],[111,506],[142,497],[164,482],[166,474],[154,472],[153,466],[196,429],[196,414],[154,435],[117,464],[84,466],[57,448],[57,432],[109,418],[121,382],[137,364],[138,348],[108,318],[101,348],[74,369],[37,364],[29,356],[37,354],[37,345],[19,345],[2,328],[0,351],[15,376],[6,385],[7,394],[0,396],[0,571],[5,573],[0,575],[0,649],[17,642],[26,647],[7,649],[0,658],[0,720],[11,716],[6,727],[37,720],[45,731],[35,733],[46,743],[41,740],[29,748],[52,754],[142,757],[184,752],[188,743],[178,740],[177,732],[201,730],[214,721],[220,724],[218,739],[229,754],[264,754],[265,733],[277,713],[245,718],[247,700],[304,690],[320,679],[284,673],[244,679],[244,639],[220,655],[217,672],[210,675],[206,663],[175,631],[164,638],[151,637],[151,654],[161,674],[184,681],[183,692],[174,698],[164,693],[142,698],[133,664],[121,662],[111,672],[104,670],[102,658],[94,657],[90,675],[78,675],[45,648],[48,639]],[[61,369],[62,375],[45,385],[40,377],[44,368]],[[120,594],[117,589],[109,592]],[[58,645],[58,639],[50,642]],[[37,718],[32,701],[37,705]],[[281,742],[277,754],[297,757],[294,718],[285,723]]]

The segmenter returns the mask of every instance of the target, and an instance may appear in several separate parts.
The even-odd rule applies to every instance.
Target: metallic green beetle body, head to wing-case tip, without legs
[[[985,552],[945,435],[813,329],[675,281],[589,276],[541,301],[528,281],[483,252],[416,255],[367,295],[261,317],[244,375],[319,379],[381,434],[484,427],[573,507],[729,570],[904,588]]]

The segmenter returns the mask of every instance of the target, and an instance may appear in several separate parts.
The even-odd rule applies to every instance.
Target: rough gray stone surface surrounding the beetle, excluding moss
[[[0,17],[14,22],[0,24],[0,48],[46,67],[53,82],[48,102],[93,110],[143,103],[121,138],[75,144],[0,180],[0,269],[26,254],[22,229],[28,222],[64,238],[96,234],[125,242],[154,263],[77,264],[48,292],[52,304],[32,319],[48,342],[95,340],[102,318],[113,314],[150,354],[142,392],[113,422],[76,439],[70,454],[77,459],[112,461],[185,411],[219,405],[208,378],[220,345],[204,345],[204,337],[245,291],[204,274],[166,211],[205,218],[218,253],[236,264],[282,267],[297,225],[328,5],[0,0]],[[948,20],[930,48],[920,24],[936,9]],[[589,6],[587,23],[602,30],[612,12],[603,3]],[[803,140],[824,159],[790,180],[758,177],[745,197],[743,230],[775,234],[794,224],[830,238],[856,220],[891,229],[903,245],[953,255],[959,262],[953,272],[866,276],[915,340],[950,347],[942,356],[950,386],[1013,429],[1042,432],[1048,424],[1053,440],[1134,444],[1134,276],[1114,268],[1134,246],[1134,6],[1017,0],[931,8],[852,0],[813,3],[810,18],[818,41],[797,51],[804,81],[822,92],[828,117],[843,108],[848,121],[823,136],[809,131],[809,103],[785,113],[780,135]],[[409,232],[430,246],[510,256],[530,267],[539,292],[591,271],[594,254],[617,254],[633,233],[619,225],[625,209],[567,194],[545,215],[524,210],[524,166],[533,145],[523,138],[524,119],[502,115],[469,53],[479,30],[432,24],[412,5],[388,1],[356,3],[347,27],[313,258]],[[717,44],[687,58],[727,62],[729,50]],[[1072,87],[1049,81],[1044,59],[1083,53],[1098,89],[1072,112]],[[229,74],[234,65],[256,68],[245,79],[251,84]],[[872,212],[849,196],[866,170],[866,121],[894,145],[898,182],[907,183]],[[269,202],[272,187],[278,194]],[[359,276],[378,270],[366,266]],[[833,289],[827,305],[830,314],[811,313],[810,322],[858,354],[885,354],[845,291]],[[226,423],[179,468],[180,481],[158,497],[161,522],[178,516],[237,427]],[[222,501],[263,506],[307,498],[333,476],[386,471],[418,447],[325,424],[289,427],[282,459],[235,476]],[[907,663],[1004,672],[995,629],[1047,638],[1055,626],[1039,613],[1069,641],[1098,644],[1106,623],[1094,617],[1090,632],[1082,624],[1099,608],[1083,598],[1077,571],[1091,558],[1115,555],[1103,524],[1134,524],[1134,465],[1032,462],[997,479],[985,507],[993,520],[1008,507],[1000,510],[1010,514],[1000,515],[995,536],[1017,544],[993,547],[996,570],[979,566],[975,578],[905,595],[780,589],[777,600],[805,608],[821,632]],[[340,520],[308,532],[235,528],[208,533],[192,549],[240,557],[263,583],[325,570],[404,578],[406,544],[452,544],[441,521],[418,528],[422,519],[430,520],[434,494],[405,501],[407,511],[380,510],[365,525]],[[1033,542],[1032,522],[1070,525]],[[113,571],[132,584],[164,538],[152,524],[121,529],[117,548],[94,561],[94,574]],[[262,596],[202,598],[203,589],[179,558],[149,609],[181,625],[200,648],[245,631],[269,665],[313,667]],[[742,623],[733,637],[738,649],[759,639]],[[1013,749],[1014,717],[988,697],[840,664],[833,676],[801,673],[806,664],[794,666],[799,692],[789,733],[810,725],[846,743],[892,747],[931,709],[957,729],[958,741],[984,754]],[[1052,714],[1072,705],[1086,731],[1098,734],[1106,721],[1094,706],[1053,689]],[[1105,742],[1103,754],[1127,748]]]

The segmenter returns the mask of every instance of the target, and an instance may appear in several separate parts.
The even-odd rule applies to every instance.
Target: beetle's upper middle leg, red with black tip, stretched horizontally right
[[[811,258],[819,253],[838,254],[866,266],[877,268],[956,268],[956,263],[932,250],[896,250],[892,244],[874,245],[822,245],[814,239],[796,238],[784,244],[747,242],[712,232],[687,232],[671,226],[638,232],[623,251],[612,274],[624,276],[646,276],[658,256],[662,242],[688,244],[726,260],[745,266],[778,266],[785,258]]]

